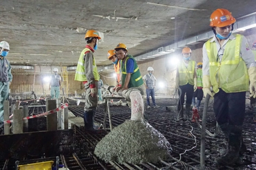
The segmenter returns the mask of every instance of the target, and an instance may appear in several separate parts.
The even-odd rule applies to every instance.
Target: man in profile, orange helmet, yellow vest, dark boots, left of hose
[[[84,127],[86,130],[95,130],[94,115],[98,104],[98,81],[100,75],[93,53],[98,48],[100,36],[95,30],[88,30],[85,34],[87,45],[81,52],[78,60],[75,80],[82,81],[85,87]],[[98,128],[98,127],[97,127]]]

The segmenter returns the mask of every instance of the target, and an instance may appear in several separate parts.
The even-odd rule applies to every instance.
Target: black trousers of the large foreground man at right
[[[213,110],[219,125],[242,125],[245,117],[245,91],[226,93],[221,90],[214,95]]]

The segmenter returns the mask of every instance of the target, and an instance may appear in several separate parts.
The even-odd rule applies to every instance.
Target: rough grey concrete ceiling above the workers
[[[107,52],[124,43],[138,56],[211,30],[209,18],[227,8],[235,18],[256,11],[252,1],[2,0],[0,40],[17,65],[76,65],[86,30],[101,32],[97,65],[111,64]]]

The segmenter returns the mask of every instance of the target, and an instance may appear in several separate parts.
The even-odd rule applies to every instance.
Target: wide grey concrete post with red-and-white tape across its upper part
[[[51,111],[56,108],[56,100],[47,100],[46,109]],[[57,131],[58,130],[58,120],[57,112],[47,115],[47,131]]]

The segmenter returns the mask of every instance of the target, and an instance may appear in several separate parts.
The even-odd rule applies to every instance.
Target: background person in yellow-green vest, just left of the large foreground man
[[[200,111],[200,104],[204,96],[203,92],[203,63],[199,62],[197,63],[197,70],[196,70],[196,77],[197,77],[197,89],[194,92],[193,98],[192,98],[192,104],[193,109],[197,108],[198,111]],[[196,101],[197,99],[197,101]]]

